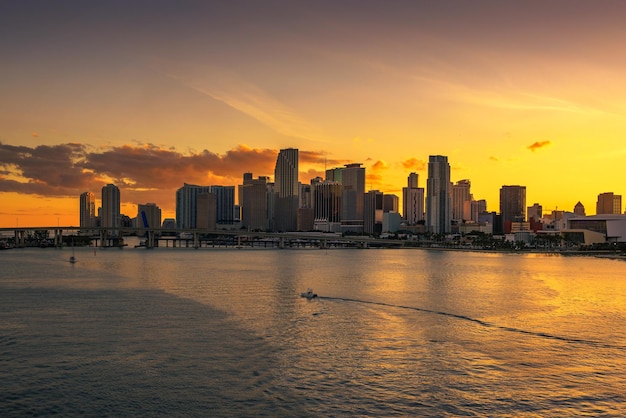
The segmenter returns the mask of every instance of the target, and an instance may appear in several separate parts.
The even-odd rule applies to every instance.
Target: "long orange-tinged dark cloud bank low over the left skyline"
[[[103,185],[112,182],[124,202],[159,204],[173,201],[173,191],[183,183],[237,185],[244,172],[273,178],[277,155],[278,150],[245,145],[217,154],[181,153],[153,144],[94,149],[75,143],[26,147],[0,142],[0,192],[77,197],[85,191],[98,195]],[[324,176],[324,153],[300,151],[299,155],[308,170],[301,173],[303,182]]]

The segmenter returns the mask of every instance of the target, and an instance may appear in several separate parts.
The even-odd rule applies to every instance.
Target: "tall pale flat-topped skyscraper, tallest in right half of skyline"
[[[428,157],[426,180],[426,226],[435,234],[450,233],[452,204],[450,198],[450,164],[448,157]]]

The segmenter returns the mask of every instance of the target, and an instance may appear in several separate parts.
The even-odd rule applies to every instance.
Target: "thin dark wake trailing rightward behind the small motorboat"
[[[361,299],[332,297],[332,296],[319,296],[319,298],[321,298],[321,299],[323,298],[324,300],[336,300],[336,301],[343,301],[343,302],[354,302],[354,303],[362,303],[362,304],[368,304],[368,305],[386,306],[386,307],[397,308],[397,309],[407,309],[407,310],[412,310],[412,311],[418,311],[418,312],[430,313],[430,314],[435,314],[435,315],[447,316],[447,317],[450,317],[450,318],[460,319],[460,320],[463,320],[463,321],[469,321],[469,322],[473,322],[475,324],[478,324],[480,326],[483,326],[485,328],[499,329],[499,330],[502,330],[502,331],[513,332],[513,333],[517,333],[517,334],[525,334],[525,335],[530,335],[530,336],[533,336],[533,337],[546,338],[546,339],[557,340],[557,341],[564,341],[564,342],[568,342],[568,343],[586,344],[586,345],[591,345],[591,346],[594,346],[594,347],[601,347],[601,348],[608,348],[608,349],[618,349],[618,350],[625,350],[626,351],[626,347],[620,346],[620,345],[606,344],[606,343],[603,343],[603,342],[600,342],[600,341],[587,340],[587,339],[584,339],[584,338],[564,337],[564,336],[555,335],[555,334],[549,334],[549,333],[545,333],[545,332],[529,331],[529,330],[525,330],[525,329],[522,329],[522,328],[507,327],[507,326],[498,325],[498,324],[494,324],[494,323],[491,323],[491,322],[483,321],[481,319],[472,318],[472,317],[466,316],[466,315],[460,315],[460,314],[455,314],[455,313],[445,312],[445,311],[437,311],[437,310],[434,310],[434,309],[419,308],[419,307],[416,307],[416,306],[395,305],[395,304],[392,304],[392,303],[375,302],[375,301],[361,300]]]

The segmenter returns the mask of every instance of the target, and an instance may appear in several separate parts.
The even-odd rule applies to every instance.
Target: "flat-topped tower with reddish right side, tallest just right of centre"
[[[346,164],[341,170],[341,186],[342,231],[363,232],[365,167],[360,163]]]

